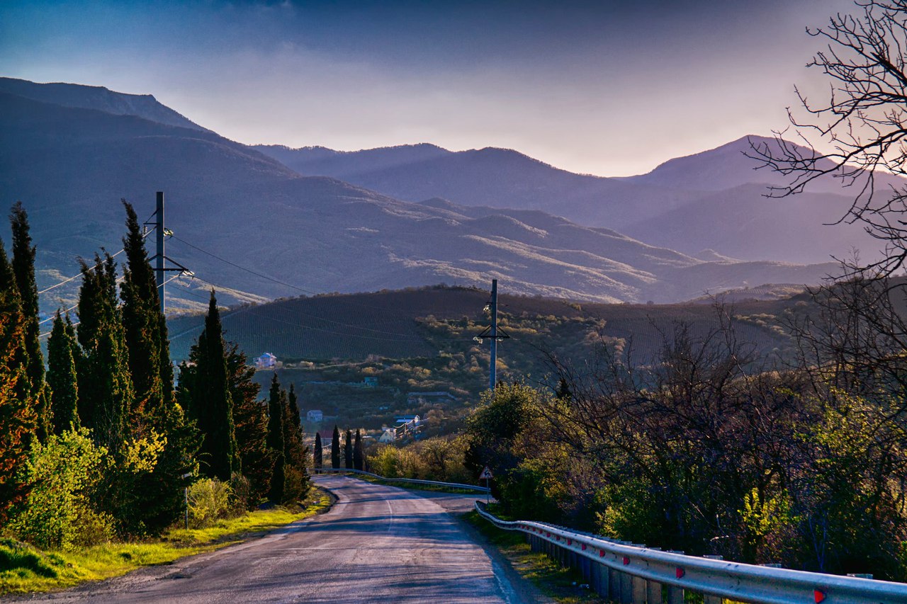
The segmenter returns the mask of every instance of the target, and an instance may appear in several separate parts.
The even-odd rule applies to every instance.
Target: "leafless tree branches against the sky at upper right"
[[[855,15],[837,14],[807,33],[825,44],[808,67],[824,73],[823,102],[797,95],[803,111],[788,109],[794,133],[751,141],[749,155],[789,177],[769,196],[800,193],[816,180],[836,179],[853,190],[840,221],[859,222],[884,248],[854,272],[884,276],[907,262],[907,0],[855,0]],[[795,139],[794,142],[784,137]],[[805,145],[801,146],[801,145]]]

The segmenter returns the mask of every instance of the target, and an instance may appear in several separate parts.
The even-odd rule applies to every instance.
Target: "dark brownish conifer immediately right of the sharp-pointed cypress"
[[[275,455],[268,449],[268,407],[258,400],[255,369],[246,363],[239,346],[230,343],[227,375],[233,399],[233,421],[242,473],[249,479],[249,504],[268,494]]]

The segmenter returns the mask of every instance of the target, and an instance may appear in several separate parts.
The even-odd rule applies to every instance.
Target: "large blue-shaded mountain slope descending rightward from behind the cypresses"
[[[29,210],[41,288],[74,274],[76,256],[119,249],[120,198],[144,218],[156,190],[166,193],[175,234],[167,255],[198,277],[169,286],[171,308],[200,307],[211,283],[235,302],[439,282],[487,287],[491,278],[512,293],[658,302],[814,283],[830,269],[703,261],[539,210],[395,200],[299,176],[213,132],[8,93],[0,132],[0,190],[7,206],[23,200]],[[71,303],[77,284],[44,295],[44,309]]]

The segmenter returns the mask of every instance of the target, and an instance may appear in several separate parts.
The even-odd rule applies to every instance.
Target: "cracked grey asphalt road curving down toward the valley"
[[[318,476],[338,501],[325,514],[171,565],[45,594],[78,602],[522,602],[522,588],[431,498],[345,476]],[[442,507],[444,505],[444,507]]]

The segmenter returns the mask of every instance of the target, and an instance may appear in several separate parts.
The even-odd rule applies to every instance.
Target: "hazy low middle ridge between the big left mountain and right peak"
[[[300,174],[332,176],[399,200],[440,197],[465,206],[541,209],[610,229],[697,198],[688,191],[574,174],[509,149],[452,152],[427,144],[348,152],[257,149]]]

